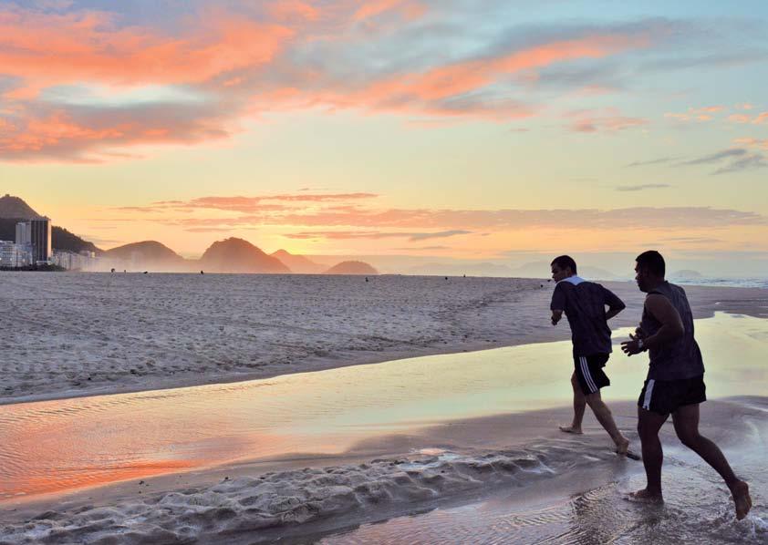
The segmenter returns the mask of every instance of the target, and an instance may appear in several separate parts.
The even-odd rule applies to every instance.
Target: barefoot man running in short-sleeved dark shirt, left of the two
[[[610,380],[603,371],[612,350],[607,321],[624,310],[626,305],[602,285],[586,282],[577,276],[576,262],[572,257],[555,257],[551,266],[552,279],[557,283],[550,304],[552,324],[557,325],[566,313],[574,346],[575,370],[571,375],[574,419],[570,426],[561,426],[560,430],[581,434],[584,411],[588,405],[613,439],[617,453],[627,455],[629,439],[618,431],[610,409],[600,396],[600,388],[610,386]]]

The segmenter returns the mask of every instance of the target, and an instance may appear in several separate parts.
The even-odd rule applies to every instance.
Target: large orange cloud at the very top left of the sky
[[[0,11],[0,66],[21,77],[11,98],[41,87],[75,82],[115,85],[202,82],[236,68],[272,60],[294,32],[223,12],[202,18],[186,36],[162,36],[140,27],[119,28],[99,12],[58,15]]]

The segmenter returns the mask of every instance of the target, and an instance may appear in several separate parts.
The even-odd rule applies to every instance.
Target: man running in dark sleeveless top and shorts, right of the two
[[[699,404],[706,401],[704,363],[693,338],[693,314],[685,291],[664,280],[666,264],[659,252],[649,250],[637,257],[635,280],[648,293],[642,321],[621,344],[627,355],[649,351],[648,378],[638,399],[638,433],[648,485],[630,499],[662,501],[661,464],[664,454],[659,429],[672,415],[680,441],[701,456],[731,490],[736,519],[752,509],[749,486],[737,478],[721,449],[699,433]]]

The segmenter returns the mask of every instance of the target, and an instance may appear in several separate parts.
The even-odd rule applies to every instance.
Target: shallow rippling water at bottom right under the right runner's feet
[[[763,404],[765,403],[763,398]],[[768,405],[763,405],[763,411]],[[337,532],[320,539],[321,545],[358,543],[749,543],[768,542],[768,490],[765,447],[768,418],[750,423],[759,433],[749,434],[738,448],[729,448],[734,468],[749,476],[754,506],[736,521],[732,501],[721,478],[690,450],[665,441],[663,505],[629,502],[629,491],[645,486],[640,465],[619,475],[596,468],[590,475],[566,474],[539,487],[539,498],[519,489],[480,502],[426,514],[389,519]],[[592,479],[594,485],[583,486]],[[575,485],[575,483],[578,483]]]

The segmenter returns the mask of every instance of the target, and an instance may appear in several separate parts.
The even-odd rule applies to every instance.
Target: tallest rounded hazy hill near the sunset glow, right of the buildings
[[[235,238],[213,242],[202,254],[200,266],[210,272],[291,272],[276,257],[267,255],[251,242]]]

